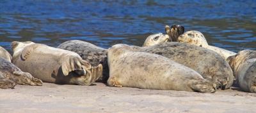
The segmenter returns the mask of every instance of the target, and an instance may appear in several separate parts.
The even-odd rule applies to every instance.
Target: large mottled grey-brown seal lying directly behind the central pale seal
[[[228,63],[218,53],[199,46],[168,42],[148,47],[132,46],[132,48],[133,51],[155,53],[185,65],[205,79],[213,81],[223,90],[230,88],[234,81],[233,72]]]

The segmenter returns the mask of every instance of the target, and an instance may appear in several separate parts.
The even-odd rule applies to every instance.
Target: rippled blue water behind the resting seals
[[[58,46],[79,39],[103,48],[141,46],[164,25],[199,30],[209,44],[256,49],[256,1],[0,1],[0,46],[34,41]]]

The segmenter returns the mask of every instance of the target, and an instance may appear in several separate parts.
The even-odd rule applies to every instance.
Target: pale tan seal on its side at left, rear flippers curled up
[[[33,42],[12,42],[13,63],[47,83],[90,85],[102,76],[102,65],[93,67],[72,51]]]

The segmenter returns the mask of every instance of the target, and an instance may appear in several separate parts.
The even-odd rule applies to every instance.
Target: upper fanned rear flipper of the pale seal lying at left
[[[63,57],[61,60],[61,69],[64,76],[68,76],[69,72],[74,70],[83,70],[83,66],[86,68],[91,68],[92,65],[86,62],[79,56],[67,56]]]

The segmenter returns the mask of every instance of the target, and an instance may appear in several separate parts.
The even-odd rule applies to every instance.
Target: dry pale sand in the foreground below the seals
[[[93,86],[15,86],[0,89],[0,112],[256,112],[256,94],[232,88],[216,93]]]

